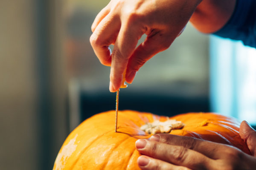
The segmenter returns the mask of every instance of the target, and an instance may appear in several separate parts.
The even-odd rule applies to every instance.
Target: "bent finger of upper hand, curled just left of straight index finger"
[[[111,66],[109,45],[116,40],[121,23],[118,17],[108,14],[97,26],[90,37],[93,50],[103,65]]]

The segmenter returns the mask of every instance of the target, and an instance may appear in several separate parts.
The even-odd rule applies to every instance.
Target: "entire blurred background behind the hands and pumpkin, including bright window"
[[[110,68],[100,64],[89,42],[90,26],[107,4],[1,0],[1,170],[52,169],[71,130],[115,109]],[[255,56],[254,48],[188,24],[120,91],[119,109],[167,116],[215,111],[256,125]]]

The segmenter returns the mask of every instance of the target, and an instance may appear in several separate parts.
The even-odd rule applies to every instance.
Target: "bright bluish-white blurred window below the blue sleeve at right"
[[[211,110],[256,125],[256,49],[210,37]]]

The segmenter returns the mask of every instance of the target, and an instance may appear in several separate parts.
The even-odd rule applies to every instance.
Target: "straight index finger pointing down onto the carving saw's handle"
[[[128,64],[128,59],[136,48],[137,42],[144,34],[136,25],[122,25],[116,38],[112,53],[110,87],[111,92],[117,91],[122,83],[122,73]]]

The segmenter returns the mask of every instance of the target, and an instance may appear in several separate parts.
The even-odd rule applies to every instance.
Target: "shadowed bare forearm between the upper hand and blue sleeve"
[[[190,22],[202,33],[213,33],[227,23],[235,6],[236,0],[202,0]]]

